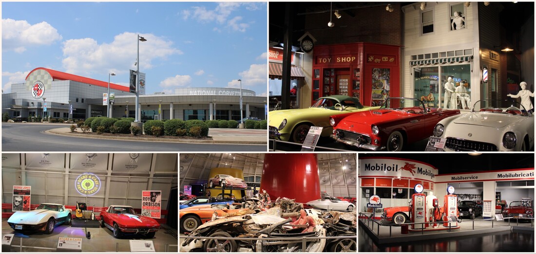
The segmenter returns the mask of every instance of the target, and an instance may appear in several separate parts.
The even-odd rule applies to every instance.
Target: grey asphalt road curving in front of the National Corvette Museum
[[[107,140],[45,133],[46,130],[65,127],[58,124],[2,123],[2,151],[15,152],[73,152],[73,151],[177,151],[222,152],[266,151],[266,145],[177,143],[154,141]]]

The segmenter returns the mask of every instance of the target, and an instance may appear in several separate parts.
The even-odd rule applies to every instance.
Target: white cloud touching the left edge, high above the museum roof
[[[61,40],[58,30],[47,22],[30,25],[26,20],[2,19],[3,50],[21,53],[27,47],[50,45]]]

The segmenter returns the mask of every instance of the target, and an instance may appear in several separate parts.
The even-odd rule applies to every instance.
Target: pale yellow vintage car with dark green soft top
[[[330,116],[376,109],[379,106],[363,106],[358,98],[346,95],[320,97],[308,109],[270,111],[270,138],[303,143],[311,126],[323,127],[322,136],[329,136],[333,131]]]

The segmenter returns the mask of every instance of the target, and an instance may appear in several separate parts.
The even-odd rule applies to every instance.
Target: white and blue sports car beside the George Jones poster
[[[44,231],[51,234],[58,225],[71,224],[71,209],[61,204],[40,204],[33,211],[18,211],[8,219],[8,224],[15,230]]]

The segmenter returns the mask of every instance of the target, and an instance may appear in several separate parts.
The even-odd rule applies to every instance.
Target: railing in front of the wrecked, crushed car
[[[313,242],[317,240],[328,240],[328,239],[350,239],[352,240],[347,245],[345,245],[345,248],[347,248],[350,251],[354,251],[352,249],[355,248],[355,251],[357,251],[357,235],[354,236],[314,236],[314,237],[205,237],[205,236],[181,236],[181,239],[206,239],[206,240],[240,240],[240,241],[261,241],[261,245],[284,245],[284,244],[290,244],[290,243],[300,243],[302,245],[302,250],[307,249],[307,242]],[[269,241],[278,241],[278,242],[269,242]],[[265,243],[266,242],[266,243]],[[225,243],[224,243],[225,244]],[[325,247],[324,247],[325,248]],[[346,250],[346,251],[348,251]],[[322,250],[321,250],[322,251]],[[234,250],[233,252],[236,252]]]

